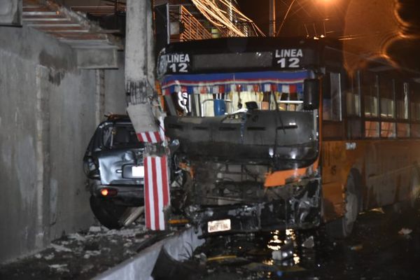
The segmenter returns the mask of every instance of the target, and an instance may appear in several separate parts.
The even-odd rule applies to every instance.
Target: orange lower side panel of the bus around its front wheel
[[[419,141],[323,141],[322,180],[324,219],[344,214],[344,187],[351,169],[360,173],[358,190],[363,209],[382,207],[409,198],[419,161]]]

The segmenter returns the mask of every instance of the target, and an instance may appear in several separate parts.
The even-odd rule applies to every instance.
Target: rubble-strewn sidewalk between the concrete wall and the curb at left
[[[155,233],[146,233],[142,223],[123,230],[92,226],[85,232],[64,235],[41,252],[0,266],[0,279],[92,279],[135,255],[141,244],[153,244],[146,241]]]

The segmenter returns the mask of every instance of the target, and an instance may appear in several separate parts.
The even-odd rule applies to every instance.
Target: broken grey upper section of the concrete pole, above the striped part
[[[156,119],[160,111],[152,106],[155,99],[155,58],[151,0],[127,0],[125,36],[125,91],[128,113],[136,111],[141,118],[133,120],[136,132],[158,132]]]

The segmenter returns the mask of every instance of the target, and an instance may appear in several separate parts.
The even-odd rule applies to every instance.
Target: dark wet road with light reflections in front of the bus
[[[420,279],[419,212],[360,214],[349,239],[318,230],[207,239],[188,262],[162,253],[154,279]]]

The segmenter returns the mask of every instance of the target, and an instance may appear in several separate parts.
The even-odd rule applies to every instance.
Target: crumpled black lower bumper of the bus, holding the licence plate
[[[201,207],[195,209],[190,218],[202,228],[202,237],[286,228],[307,229],[320,224],[320,179],[311,179],[304,185],[279,188],[291,195],[287,198],[276,197],[269,202]]]

